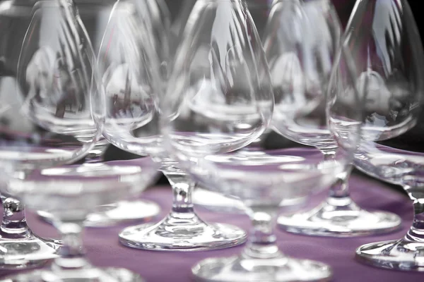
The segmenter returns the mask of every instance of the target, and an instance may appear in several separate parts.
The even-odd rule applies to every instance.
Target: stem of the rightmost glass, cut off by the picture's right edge
[[[409,197],[413,200],[413,223],[408,233],[406,240],[413,242],[424,243],[424,190],[423,188],[404,187],[408,192]]]

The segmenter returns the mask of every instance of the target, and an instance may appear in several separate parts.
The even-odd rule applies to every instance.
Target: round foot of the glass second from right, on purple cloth
[[[353,202],[331,204],[328,199],[309,212],[279,216],[278,226],[290,233],[354,237],[396,231],[401,218],[390,212],[368,212]]]

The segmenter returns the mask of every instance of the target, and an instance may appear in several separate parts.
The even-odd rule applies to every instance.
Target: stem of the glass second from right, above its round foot
[[[331,161],[336,157],[334,149],[322,150],[321,152],[324,154],[324,161]],[[348,179],[352,171],[351,168],[352,166],[346,168],[346,171],[337,176],[336,182],[331,185],[329,197],[326,200],[331,206],[347,207],[353,204],[348,185]]]

